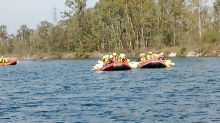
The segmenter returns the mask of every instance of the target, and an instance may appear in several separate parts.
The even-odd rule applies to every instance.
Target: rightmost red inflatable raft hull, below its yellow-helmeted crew
[[[141,62],[138,65],[138,68],[166,68],[165,60],[152,59],[145,62]]]

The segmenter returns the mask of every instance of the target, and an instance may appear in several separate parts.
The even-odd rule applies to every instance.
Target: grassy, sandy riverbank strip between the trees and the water
[[[136,50],[130,52],[122,52],[127,55],[127,57],[138,57],[141,52],[146,54],[152,51],[153,53],[163,52],[165,57],[205,57],[205,56],[220,56],[220,45],[203,45],[200,47],[165,47],[161,49],[147,48],[143,50]],[[121,52],[117,52],[121,53]],[[101,58],[103,55],[112,54],[101,53],[101,52],[91,52],[84,53],[84,55],[79,56],[77,53],[39,53],[39,54],[5,54],[6,57],[14,57],[17,59],[78,59],[78,58]]]

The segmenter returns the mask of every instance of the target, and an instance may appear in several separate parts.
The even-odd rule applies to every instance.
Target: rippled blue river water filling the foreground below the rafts
[[[98,59],[0,67],[0,122],[220,122],[220,58],[165,69],[92,71]]]

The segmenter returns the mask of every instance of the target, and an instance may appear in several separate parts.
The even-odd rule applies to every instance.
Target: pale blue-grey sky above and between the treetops
[[[36,29],[41,21],[53,23],[54,7],[57,22],[63,20],[60,12],[68,10],[66,0],[0,0],[0,25],[6,25],[8,34],[17,34],[20,26],[25,24]],[[93,7],[99,0],[87,0],[87,7]],[[212,6],[215,0],[208,0]]]

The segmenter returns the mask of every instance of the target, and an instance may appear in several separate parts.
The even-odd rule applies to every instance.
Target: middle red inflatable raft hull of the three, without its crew
[[[128,63],[125,62],[113,62],[107,65],[104,65],[100,68],[102,71],[122,71],[122,70],[131,70],[131,67]]]

